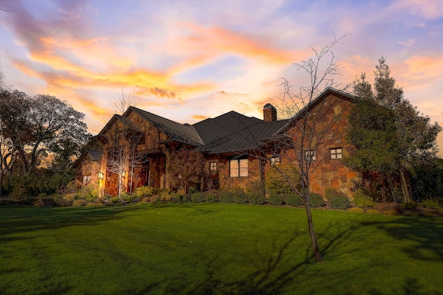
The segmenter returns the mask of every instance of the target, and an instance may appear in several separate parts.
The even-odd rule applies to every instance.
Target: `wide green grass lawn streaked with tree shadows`
[[[237,204],[0,209],[0,294],[443,294],[443,218]]]

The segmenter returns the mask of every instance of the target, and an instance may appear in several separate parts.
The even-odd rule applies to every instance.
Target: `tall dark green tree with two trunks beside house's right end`
[[[436,158],[436,138],[442,128],[437,122],[431,124],[429,117],[404,98],[383,57],[374,75],[374,90],[364,74],[354,87],[360,101],[350,114],[347,140],[356,150],[345,162],[359,171],[386,174],[394,201],[397,189],[392,179],[398,175],[399,190],[406,202],[411,199],[406,175],[413,175],[417,164]]]

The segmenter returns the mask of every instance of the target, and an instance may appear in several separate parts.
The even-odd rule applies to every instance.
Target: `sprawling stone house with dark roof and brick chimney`
[[[100,171],[91,171],[90,175],[100,173],[100,189],[111,195],[116,195],[119,187],[128,192],[143,185],[172,189],[171,155],[186,147],[204,154],[210,175],[206,186],[246,188],[264,180],[273,164],[296,164],[300,153],[294,146],[277,143],[300,142],[299,125],[304,114],[309,114],[317,120],[316,132],[322,134],[316,150],[300,147],[313,161],[311,191],[323,195],[326,187],[335,187],[350,194],[351,180],[358,175],[345,167],[341,158],[352,149],[344,137],[353,99],[352,95],[327,88],[289,120],[278,120],[276,109],[266,104],[263,120],[230,111],[193,125],[130,106],[123,115],[114,115],[96,135],[103,144]],[[77,165],[88,166],[83,162],[91,161],[91,157],[82,155]],[[129,162],[137,164],[131,166]],[[118,175],[123,176],[121,183]]]

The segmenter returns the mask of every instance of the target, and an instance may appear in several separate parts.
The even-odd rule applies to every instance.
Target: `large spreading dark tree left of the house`
[[[1,161],[11,175],[14,164],[30,177],[43,160],[69,159],[87,142],[84,114],[51,95],[29,97],[20,91],[1,91]]]

